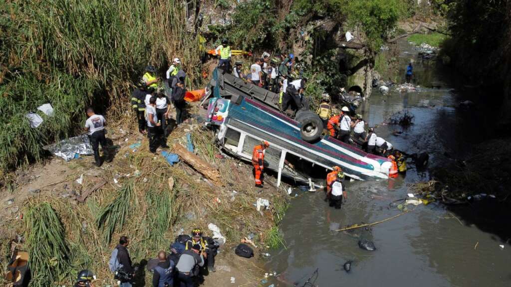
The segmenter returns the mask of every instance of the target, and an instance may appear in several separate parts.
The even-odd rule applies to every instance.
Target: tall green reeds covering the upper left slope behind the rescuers
[[[41,159],[42,145],[76,134],[84,108],[120,115],[130,84],[152,64],[178,56],[200,74],[198,35],[187,32],[195,3],[151,0],[13,0],[0,5],[0,169]],[[51,103],[37,129],[24,114]]]

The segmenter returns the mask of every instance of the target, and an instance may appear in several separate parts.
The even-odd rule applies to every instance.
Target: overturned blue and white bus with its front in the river
[[[389,159],[368,154],[328,135],[322,136],[322,125],[308,132],[304,123],[315,123],[315,120],[306,112],[293,119],[243,92],[230,92],[230,99],[225,99],[220,97],[225,94],[221,86],[218,82],[211,86],[214,97],[208,102],[206,124],[218,127],[217,140],[226,153],[246,161],[251,161],[253,147],[267,140],[270,147],[265,150],[264,165],[266,170],[277,174],[277,186],[282,177],[304,184],[310,178],[322,182],[324,174],[335,165],[354,179],[388,178]],[[266,96],[275,97],[274,94]],[[319,128],[318,134],[315,129]]]

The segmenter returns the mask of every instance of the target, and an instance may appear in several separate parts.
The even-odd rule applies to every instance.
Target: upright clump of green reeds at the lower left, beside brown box
[[[32,287],[51,286],[69,272],[69,248],[60,218],[50,203],[31,206],[27,212],[27,244]]]

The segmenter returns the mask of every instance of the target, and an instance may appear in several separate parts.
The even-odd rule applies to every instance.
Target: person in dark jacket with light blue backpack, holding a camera
[[[112,251],[108,266],[114,274],[114,279],[121,282],[120,287],[131,287],[131,280],[135,270],[131,265],[131,258],[128,252],[129,239],[127,236],[119,238],[119,244]]]

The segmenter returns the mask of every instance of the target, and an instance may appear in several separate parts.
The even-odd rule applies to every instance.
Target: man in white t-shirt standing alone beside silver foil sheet
[[[94,109],[91,107],[87,108],[87,116],[88,118],[85,121],[85,131],[88,132],[87,135],[89,137],[90,145],[92,146],[92,151],[94,151],[96,166],[101,166],[102,162],[99,155],[100,144],[101,149],[103,150],[103,155],[105,157],[108,155],[105,137],[106,121],[102,115],[94,113]]]

